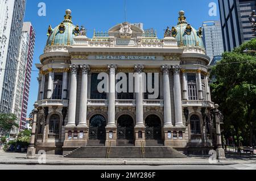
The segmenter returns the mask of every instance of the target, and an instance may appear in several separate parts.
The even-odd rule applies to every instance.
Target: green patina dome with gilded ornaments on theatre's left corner
[[[72,23],[71,10],[66,10],[63,22],[53,29],[49,26],[46,45],[73,45],[73,38],[77,36],[78,33],[79,27],[74,26]]]

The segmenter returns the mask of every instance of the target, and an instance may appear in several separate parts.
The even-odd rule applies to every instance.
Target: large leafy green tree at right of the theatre
[[[256,50],[256,39],[222,54],[222,60],[212,69],[215,80],[210,86],[213,101],[220,104],[224,113],[225,136],[243,137],[252,146],[256,126],[256,53],[243,53],[246,49]]]

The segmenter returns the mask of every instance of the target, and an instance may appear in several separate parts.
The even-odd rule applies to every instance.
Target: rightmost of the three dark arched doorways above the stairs
[[[145,120],[146,140],[162,140],[162,124],[156,115],[149,115]]]

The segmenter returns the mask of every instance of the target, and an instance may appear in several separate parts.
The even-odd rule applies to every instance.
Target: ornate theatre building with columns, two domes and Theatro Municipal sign
[[[90,39],[67,10],[63,22],[49,26],[36,65],[36,150],[67,154],[80,146],[143,145],[187,153],[212,146],[208,113],[214,104],[201,36],[180,11],[164,39],[127,22]],[[129,91],[117,91],[120,81]],[[148,86],[152,82],[158,85]]]

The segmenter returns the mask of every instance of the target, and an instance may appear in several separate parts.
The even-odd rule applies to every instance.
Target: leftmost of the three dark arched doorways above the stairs
[[[90,140],[106,140],[106,119],[102,115],[94,115],[89,123]]]

